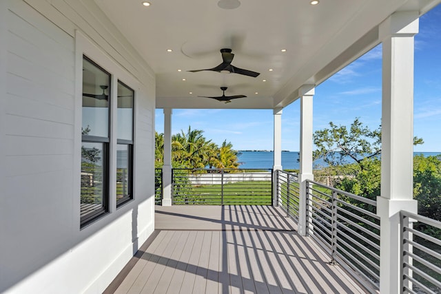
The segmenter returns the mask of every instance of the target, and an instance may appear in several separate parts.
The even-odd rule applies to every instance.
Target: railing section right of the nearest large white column
[[[400,212],[403,293],[441,293],[441,222]]]

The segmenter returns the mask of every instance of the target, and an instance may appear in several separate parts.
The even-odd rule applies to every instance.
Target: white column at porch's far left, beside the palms
[[[172,109],[164,108],[163,206],[172,206]]]

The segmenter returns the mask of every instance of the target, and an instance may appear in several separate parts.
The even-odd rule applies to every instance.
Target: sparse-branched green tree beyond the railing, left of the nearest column
[[[413,144],[424,143],[414,137]],[[375,200],[380,195],[381,126],[369,129],[356,118],[350,127],[329,123],[329,129],[314,133],[314,159],[322,159],[322,169],[334,181],[331,185]]]

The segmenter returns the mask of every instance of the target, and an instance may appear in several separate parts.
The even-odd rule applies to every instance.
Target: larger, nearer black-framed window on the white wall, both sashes
[[[81,227],[109,211],[110,81],[83,56]]]

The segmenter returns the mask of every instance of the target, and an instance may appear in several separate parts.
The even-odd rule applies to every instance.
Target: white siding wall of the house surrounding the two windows
[[[101,293],[154,229],[154,75],[93,1],[0,2],[0,292]],[[136,91],[135,200],[82,230],[81,48]]]

